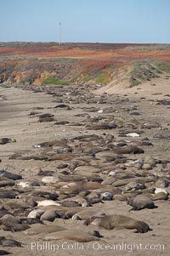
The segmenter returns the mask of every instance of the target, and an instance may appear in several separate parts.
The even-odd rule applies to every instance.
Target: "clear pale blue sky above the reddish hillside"
[[[170,0],[0,0],[0,42],[170,43]]]

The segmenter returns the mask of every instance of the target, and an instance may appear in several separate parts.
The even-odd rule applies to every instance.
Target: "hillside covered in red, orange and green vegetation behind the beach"
[[[133,87],[170,71],[170,45],[0,43],[0,82]]]

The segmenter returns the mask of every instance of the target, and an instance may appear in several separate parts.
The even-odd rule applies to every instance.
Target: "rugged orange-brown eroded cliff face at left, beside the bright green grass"
[[[47,77],[57,80],[71,81],[74,76],[75,65],[59,65],[39,63],[38,61],[6,62],[0,66],[0,82],[7,84],[23,83],[41,85]]]

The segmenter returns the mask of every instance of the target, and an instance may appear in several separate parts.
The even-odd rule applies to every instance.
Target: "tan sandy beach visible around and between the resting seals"
[[[168,82],[170,80],[164,80]],[[145,85],[144,85],[145,86]],[[158,89],[158,87],[160,88]],[[76,150],[74,149],[72,154],[74,158],[67,160],[20,160],[20,159],[9,159],[14,154],[20,156],[44,156],[48,153],[48,156],[55,156],[55,151],[60,148],[37,148],[38,145],[44,141],[52,141],[54,139],[72,139],[77,136],[92,135],[98,136],[112,135],[118,141],[118,139],[125,139],[127,143],[136,143],[141,141],[140,139],[148,138],[151,146],[142,145],[144,154],[142,155],[129,155],[129,159],[139,160],[145,156],[152,156],[156,160],[169,160],[168,153],[170,147],[169,139],[169,106],[168,105],[156,105],[156,100],[169,100],[166,94],[170,94],[170,87],[166,88],[167,91],[162,92],[162,82],[159,82],[156,87],[150,87],[152,89],[151,94],[144,94],[144,90],[141,88],[128,89],[127,91],[116,94],[116,95],[105,95],[103,98],[100,95],[85,96],[85,100],[82,97],[84,92],[80,96],[75,96],[73,89],[68,88],[69,95],[65,94],[62,96],[54,96],[53,94],[47,94],[47,92],[35,92],[33,90],[23,90],[22,88],[3,88],[0,87],[0,95],[3,95],[4,99],[0,101],[0,139],[10,138],[15,139],[16,142],[0,145],[0,169],[8,170],[13,174],[21,174],[23,179],[34,179],[41,183],[41,176],[37,175],[37,171],[41,168],[43,171],[50,170],[54,171],[54,176],[67,171],[68,168],[59,169],[60,164],[70,164],[74,158],[81,159],[81,157],[88,159],[87,166],[95,166],[100,168],[101,172],[98,173],[100,177],[105,180],[108,178],[108,172],[106,165],[102,162],[95,162],[95,158],[88,155],[90,150],[89,145],[83,148],[82,153],[78,153],[77,150],[79,142],[70,141],[70,147],[72,144],[77,143]],[[156,88],[156,91],[154,91]],[[51,88],[47,91],[52,90]],[[158,94],[162,92],[162,94]],[[136,94],[138,92],[138,94]],[[59,90],[54,89],[55,94],[59,94]],[[87,93],[88,94],[88,93]],[[126,95],[125,95],[126,94]],[[61,94],[60,94],[61,95]],[[78,95],[78,94],[77,94]],[[124,96],[125,95],[125,96]],[[91,98],[90,98],[91,97]],[[63,98],[63,102],[59,103],[59,99]],[[128,100],[127,100],[128,98]],[[80,102],[78,102],[80,100]],[[82,100],[82,101],[81,101]],[[106,101],[106,103],[104,102]],[[59,104],[65,104],[70,106],[68,109],[54,108]],[[102,110],[102,111],[101,111]],[[109,111],[108,111],[109,110]],[[31,113],[33,112],[34,113]],[[131,115],[133,112],[138,112],[139,115]],[[38,122],[40,115],[50,113],[54,115],[53,122]],[[102,117],[107,121],[111,117],[112,122],[116,122],[120,125],[116,129],[111,130],[93,130],[89,129],[90,123],[89,117],[87,118],[83,114],[86,113],[90,118]],[[54,124],[54,122],[67,121],[68,124]],[[121,126],[122,122],[122,126]],[[127,126],[127,123],[136,122],[136,128]],[[79,123],[79,125],[78,125]],[[151,128],[142,128],[142,124],[150,124]],[[155,126],[154,126],[155,124]],[[157,124],[157,125],[156,125]],[[145,125],[146,126],[146,125]],[[139,133],[140,137],[120,137],[123,132],[135,132]],[[164,139],[162,139],[163,137]],[[161,138],[161,139],[160,139]],[[167,138],[167,139],[166,139]],[[115,141],[116,141],[115,140]],[[83,142],[81,142],[83,145]],[[86,153],[87,152],[87,153]],[[70,153],[70,154],[71,154]],[[91,160],[90,157],[92,158]],[[97,158],[97,157],[96,157]],[[94,162],[94,163],[93,163]],[[99,165],[98,165],[99,164]],[[102,165],[103,164],[103,165]],[[103,169],[102,169],[103,166]],[[87,167],[87,169],[88,169]],[[122,165],[118,164],[113,169],[121,168]],[[148,171],[144,171],[147,176],[147,172],[150,174],[157,174],[158,177],[164,177],[167,174],[169,179],[169,168],[170,165],[167,163],[166,167],[162,167],[161,163],[157,163],[154,168]],[[111,170],[111,166],[109,167]],[[128,171],[135,171],[135,168],[127,168]],[[63,173],[64,174],[64,173]],[[76,173],[79,175],[79,173]],[[81,175],[81,173],[80,173]],[[126,178],[124,178],[126,179]],[[152,186],[152,184],[150,183]],[[122,187],[124,188],[124,187]],[[8,187],[7,187],[8,189]],[[10,187],[9,187],[10,189]],[[14,186],[16,189],[16,185]],[[170,192],[168,186],[167,192]],[[47,186],[48,190],[48,186]],[[58,191],[59,189],[56,189]],[[3,198],[1,204],[8,202],[8,199]],[[5,247],[8,252],[13,255],[169,255],[169,229],[168,229],[168,213],[170,211],[169,199],[158,200],[155,202],[158,208],[147,209],[144,208],[140,211],[129,212],[129,205],[127,202],[120,200],[104,201],[93,204],[93,207],[97,210],[104,209],[105,213],[109,214],[123,214],[133,219],[139,219],[146,222],[151,227],[151,231],[139,234],[133,230],[105,230],[93,225],[83,225],[83,220],[76,219],[55,219],[55,224],[61,225],[69,230],[99,230],[102,234],[102,238],[98,242],[81,242],[79,245],[75,245],[74,241],[62,239],[58,241],[52,241],[50,244],[45,244],[42,236],[26,236],[23,232],[11,232],[1,230],[1,236],[8,236],[8,238],[16,239],[25,245],[25,247]],[[33,243],[34,242],[34,243]],[[123,247],[123,243],[131,243],[128,247]],[[55,244],[55,247],[54,247]],[[109,245],[105,247],[104,245]],[[115,249],[113,245],[121,244],[122,247]],[[163,245],[161,250],[158,245]],[[42,246],[43,245],[43,246]],[[69,246],[70,245],[70,246]],[[148,245],[146,247],[146,245]],[[156,248],[157,247],[157,248]],[[4,247],[3,247],[4,249]]]

